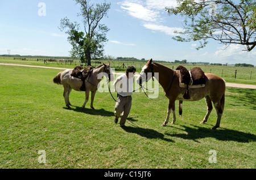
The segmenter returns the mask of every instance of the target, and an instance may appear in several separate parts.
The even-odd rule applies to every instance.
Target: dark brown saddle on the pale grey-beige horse
[[[90,72],[92,72],[93,67],[92,66],[87,66],[87,67],[82,67],[82,66],[76,66],[72,73],[71,76],[75,78],[79,78],[82,81],[82,86],[80,87],[81,91],[85,91],[85,79],[90,75]]]

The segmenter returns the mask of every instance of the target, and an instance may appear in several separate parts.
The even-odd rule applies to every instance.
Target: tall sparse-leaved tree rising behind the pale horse
[[[91,65],[92,58],[102,57],[104,54],[104,44],[108,41],[106,33],[109,28],[105,24],[100,24],[100,20],[108,15],[111,3],[91,3],[89,0],[74,0],[76,5],[80,5],[81,12],[77,16],[82,17],[84,31],[80,31],[80,24],[71,22],[67,17],[60,20],[61,31],[67,29],[68,41],[72,45],[70,51],[72,57],[86,59]]]

